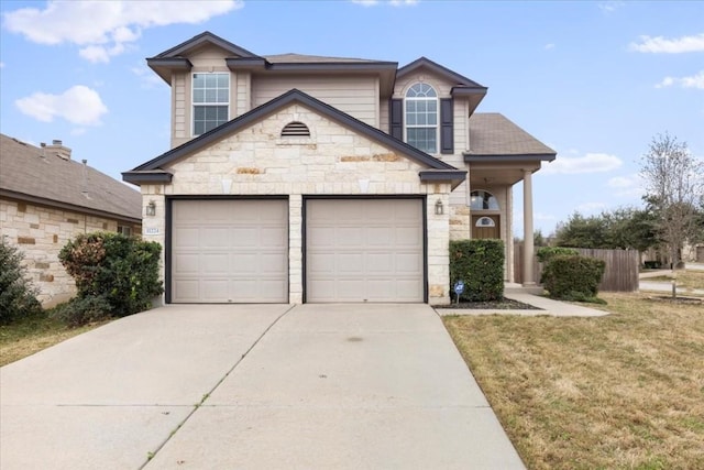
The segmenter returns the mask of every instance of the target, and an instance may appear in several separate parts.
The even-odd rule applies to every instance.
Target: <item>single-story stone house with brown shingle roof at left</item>
[[[41,147],[0,134],[0,237],[18,247],[45,307],[67,300],[73,277],[58,252],[78,233],[141,233],[142,197],[70,160],[62,141]]]

